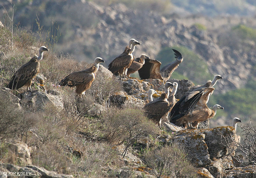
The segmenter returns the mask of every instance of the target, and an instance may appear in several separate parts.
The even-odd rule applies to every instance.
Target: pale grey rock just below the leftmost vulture
[[[23,107],[42,110],[46,103],[52,103],[58,110],[63,109],[62,98],[57,95],[46,94],[40,91],[26,91],[20,94],[20,103]]]

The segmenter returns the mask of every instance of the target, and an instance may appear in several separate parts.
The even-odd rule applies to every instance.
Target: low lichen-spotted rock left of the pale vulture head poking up
[[[118,107],[122,107],[125,104],[136,104],[141,107],[144,106],[143,100],[127,95],[126,92],[116,92],[115,94],[110,96],[110,101],[116,104]]]

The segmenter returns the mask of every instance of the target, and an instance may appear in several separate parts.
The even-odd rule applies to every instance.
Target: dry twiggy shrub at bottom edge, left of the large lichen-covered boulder
[[[186,159],[186,155],[182,146],[173,143],[145,152],[144,160],[157,177],[196,177],[195,167]]]

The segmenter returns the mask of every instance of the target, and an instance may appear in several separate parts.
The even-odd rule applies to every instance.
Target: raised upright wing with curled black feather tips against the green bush
[[[167,78],[167,80],[172,76],[172,72],[179,66],[179,64],[183,61],[183,56],[181,53],[175,49],[172,49],[175,54],[176,60],[167,64],[161,69],[161,74],[163,74],[164,78]]]

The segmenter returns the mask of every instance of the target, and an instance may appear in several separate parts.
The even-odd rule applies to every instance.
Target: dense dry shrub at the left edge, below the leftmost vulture
[[[0,136],[18,137],[20,140],[37,121],[37,115],[17,108],[0,95]]]

